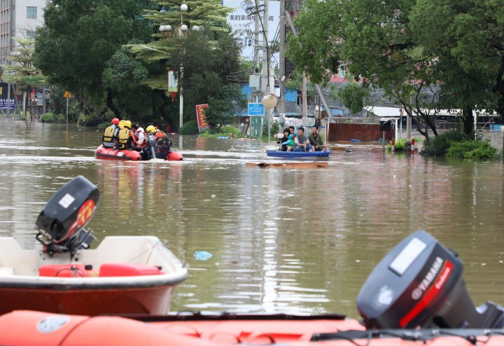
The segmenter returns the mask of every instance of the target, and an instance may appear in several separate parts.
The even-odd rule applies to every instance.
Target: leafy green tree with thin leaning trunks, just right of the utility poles
[[[401,104],[428,142],[429,130],[437,134],[433,117],[440,104],[440,76],[409,28],[415,3],[307,0],[296,20],[300,34],[290,36],[288,55],[314,83],[326,83],[344,63],[364,88],[383,90],[384,97]],[[358,94],[342,95],[359,104]]]

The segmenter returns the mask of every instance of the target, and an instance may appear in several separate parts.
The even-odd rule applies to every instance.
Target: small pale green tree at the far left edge
[[[33,64],[34,40],[32,39],[14,39],[15,53],[8,57],[8,64],[3,65],[3,81],[13,83],[17,88],[25,92],[30,92],[31,88],[40,87],[45,77],[41,71],[36,69]],[[26,109],[25,109],[26,118]],[[33,118],[33,111],[30,117]]]

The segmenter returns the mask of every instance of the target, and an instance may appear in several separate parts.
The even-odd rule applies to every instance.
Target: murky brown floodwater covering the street
[[[0,118],[0,236],[34,247],[45,202],[82,174],[100,188],[90,223],[106,235],[156,235],[189,265],[172,310],[340,312],[374,265],[423,229],[465,264],[475,303],[503,304],[502,163],[330,155],[327,169],[247,168],[260,141],[171,136],[182,162],[96,160],[102,130]],[[197,261],[196,251],[212,257]],[[499,288],[500,287],[500,288]]]

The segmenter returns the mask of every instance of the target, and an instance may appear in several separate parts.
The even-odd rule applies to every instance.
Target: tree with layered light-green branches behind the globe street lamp
[[[148,66],[149,77],[144,85],[154,90],[158,102],[155,113],[170,123],[178,118],[178,102],[167,94],[167,69],[179,72],[183,79],[179,88],[184,92],[184,121],[195,119],[195,105],[209,104],[209,123],[221,124],[232,113],[233,105],[242,102],[239,85],[228,76],[240,69],[240,43],[232,36],[225,15],[230,8],[219,0],[186,1],[187,13],[181,13],[177,1],[163,3],[157,11],[147,11],[147,17],[160,25],[172,25],[172,32],[158,33],[147,45],[130,45],[131,51]],[[190,34],[179,37],[177,27],[187,25]],[[195,26],[204,27],[197,32]],[[147,48],[146,48],[147,47]]]

